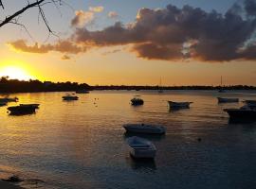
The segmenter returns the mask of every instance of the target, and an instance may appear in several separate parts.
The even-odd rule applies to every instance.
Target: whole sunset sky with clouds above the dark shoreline
[[[29,0],[33,2],[33,0]],[[27,6],[3,1],[0,20]],[[0,76],[90,85],[256,86],[255,0],[65,0],[0,27]],[[255,11],[254,11],[255,10]]]

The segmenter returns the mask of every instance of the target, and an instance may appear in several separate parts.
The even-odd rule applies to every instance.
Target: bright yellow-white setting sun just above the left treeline
[[[12,79],[29,80],[32,79],[26,70],[18,66],[6,66],[0,69],[0,77],[9,77]]]

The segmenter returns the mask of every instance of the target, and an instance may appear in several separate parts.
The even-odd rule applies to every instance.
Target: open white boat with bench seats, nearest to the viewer
[[[131,156],[134,158],[155,158],[156,147],[150,141],[133,136],[127,139]]]

